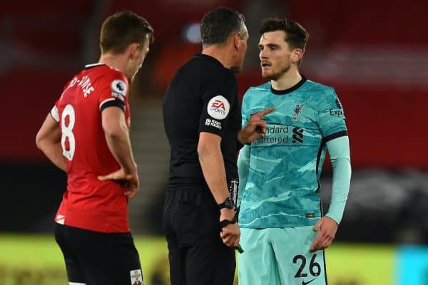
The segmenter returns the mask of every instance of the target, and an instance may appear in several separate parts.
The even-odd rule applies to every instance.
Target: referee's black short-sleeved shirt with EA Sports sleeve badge
[[[228,182],[238,177],[237,93],[233,71],[211,56],[196,54],[175,73],[163,98],[163,123],[171,148],[170,187],[206,186],[197,152],[200,132],[222,137]]]

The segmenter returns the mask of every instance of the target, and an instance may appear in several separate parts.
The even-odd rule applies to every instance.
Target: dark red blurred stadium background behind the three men
[[[132,10],[155,29],[131,88],[131,139],[141,192],[131,201],[136,234],[162,234],[169,147],[161,100],[175,70],[200,51],[198,24],[218,6],[238,9],[250,41],[239,95],[263,82],[260,21],[286,16],[310,33],[301,73],[335,87],[345,108],[352,185],[337,233],[342,242],[428,242],[428,5],[412,1],[8,1],[0,9],[0,232],[50,232],[66,177],[36,149],[35,135],[63,85],[98,61],[101,23]],[[331,167],[321,195],[328,207]]]

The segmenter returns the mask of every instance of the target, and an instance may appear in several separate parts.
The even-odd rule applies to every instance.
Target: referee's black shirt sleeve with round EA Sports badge
[[[230,71],[227,76],[215,76],[202,90],[202,112],[199,132],[215,133],[223,137],[230,110],[238,93],[238,82]]]

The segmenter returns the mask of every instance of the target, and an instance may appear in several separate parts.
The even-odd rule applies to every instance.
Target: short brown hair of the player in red
[[[153,28],[146,19],[132,11],[109,16],[101,27],[101,53],[123,53],[131,43],[144,43],[148,36],[153,43]]]

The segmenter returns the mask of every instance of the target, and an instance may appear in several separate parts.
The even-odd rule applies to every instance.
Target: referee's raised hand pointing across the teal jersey
[[[275,110],[275,108],[270,107],[251,115],[247,125],[238,133],[238,140],[240,143],[248,144],[260,137],[260,135],[265,136],[267,124],[262,118],[273,110]]]

